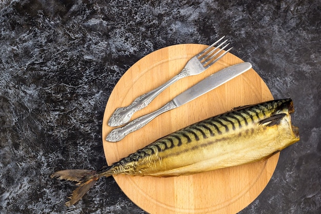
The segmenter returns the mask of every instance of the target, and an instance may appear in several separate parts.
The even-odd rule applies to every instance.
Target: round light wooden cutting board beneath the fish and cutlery
[[[233,107],[273,100],[258,74],[250,69],[228,83],[171,111],[159,115],[122,141],[105,141],[113,129],[107,122],[117,107],[128,106],[137,96],[167,82],[206,45],[182,44],[154,51],[135,63],[116,84],[103,121],[103,145],[108,165],[187,125],[231,110]],[[179,80],[163,91],[132,119],[150,113],[210,74],[243,62],[228,53],[202,74]],[[265,188],[278,161],[277,153],[266,161],[171,178],[115,176],[130,200],[149,213],[236,213]]]

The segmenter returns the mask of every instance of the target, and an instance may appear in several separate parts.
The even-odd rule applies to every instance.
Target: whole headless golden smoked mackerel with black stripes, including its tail
[[[172,177],[266,160],[299,141],[292,99],[241,106],[179,129],[97,171],[66,169],[51,178],[77,182],[71,206],[102,177]]]

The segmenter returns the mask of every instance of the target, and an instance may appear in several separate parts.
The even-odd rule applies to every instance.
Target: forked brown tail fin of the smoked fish
[[[84,194],[97,182],[99,174],[94,170],[86,169],[66,169],[56,171],[51,175],[51,178],[58,178],[69,181],[78,182],[78,187],[72,192],[69,197],[70,201],[66,202],[66,206],[71,206],[79,201]]]

